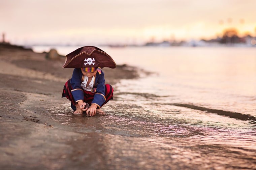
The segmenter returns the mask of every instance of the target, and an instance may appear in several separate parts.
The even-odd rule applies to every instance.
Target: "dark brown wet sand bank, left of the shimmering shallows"
[[[61,98],[73,70],[63,69],[64,61],[0,45],[0,169],[113,169],[104,134],[79,133],[74,130],[79,127],[63,124],[61,114],[58,117],[60,110],[74,116],[68,100]],[[121,78],[138,76],[135,68],[125,65],[103,71],[114,89]],[[111,101],[106,105],[111,108]],[[75,118],[79,122],[84,116]],[[84,128],[101,128],[101,119],[88,118]]]

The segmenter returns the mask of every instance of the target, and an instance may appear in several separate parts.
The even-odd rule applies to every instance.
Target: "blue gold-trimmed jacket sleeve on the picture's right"
[[[97,108],[100,108],[101,105],[106,101],[105,98],[105,78],[104,72],[102,71],[101,74],[98,74],[99,78],[96,83],[96,93],[94,95],[92,104],[97,105]]]

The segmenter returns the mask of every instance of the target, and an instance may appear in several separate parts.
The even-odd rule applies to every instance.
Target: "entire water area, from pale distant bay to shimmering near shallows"
[[[101,49],[117,64],[153,73],[121,80],[97,122],[62,111],[58,121],[101,124],[91,130],[105,134],[113,167],[256,168],[256,48]]]

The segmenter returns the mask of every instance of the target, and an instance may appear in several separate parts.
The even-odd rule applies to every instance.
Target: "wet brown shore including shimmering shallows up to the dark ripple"
[[[127,66],[104,68],[115,89],[106,115],[74,115],[61,98],[72,73],[63,63],[0,46],[1,170],[255,169],[252,115],[142,93],[145,79]]]

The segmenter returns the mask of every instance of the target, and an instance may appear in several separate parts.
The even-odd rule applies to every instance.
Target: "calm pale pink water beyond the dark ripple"
[[[255,48],[109,51],[117,56],[117,62],[125,61],[157,73],[139,81],[123,80],[121,87],[129,91],[171,96],[164,98],[164,103],[192,103],[256,115]]]

